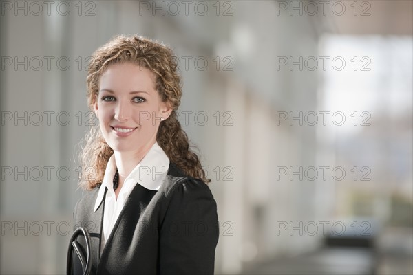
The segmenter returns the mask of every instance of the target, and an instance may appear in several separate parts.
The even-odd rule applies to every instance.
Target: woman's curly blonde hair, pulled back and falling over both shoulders
[[[87,74],[87,100],[93,110],[99,91],[100,76],[109,65],[115,63],[135,63],[151,70],[156,75],[156,90],[162,102],[171,107],[171,115],[160,123],[156,141],[165,151],[170,161],[186,175],[207,179],[198,155],[189,148],[187,134],[182,130],[176,111],[180,105],[182,87],[177,71],[176,56],[172,50],[141,36],[116,36],[98,48],[89,63]],[[105,175],[109,157],[114,153],[105,142],[99,126],[91,126],[85,136],[85,146],[80,155],[81,173],[79,186],[92,190],[100,186]],[[83,175],[83,176],[82,176]]]

